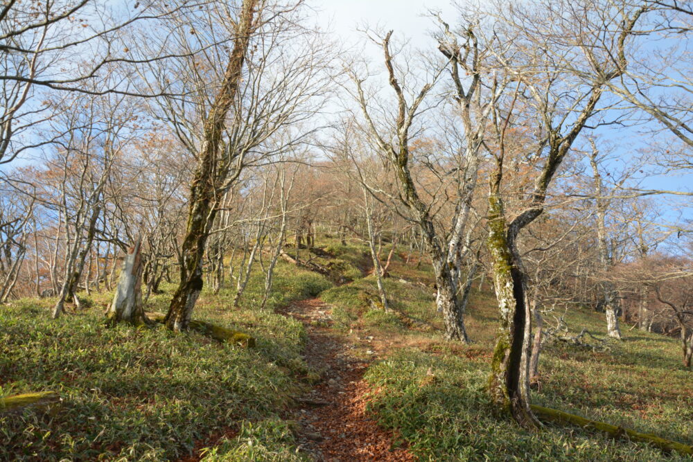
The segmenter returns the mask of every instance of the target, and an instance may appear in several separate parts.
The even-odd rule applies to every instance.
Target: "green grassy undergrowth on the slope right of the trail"
[[[427,268],[417,272],[401,259],[392,274],[409,281],[430,278]],[[338,291],[340,287],[335,287],[325,295]],[[430,322],[406,329],[393,329],[395,321],[369,325],[369,311],[358,305],[358,294],[342,295],[340,300],[335,297],[335,305],[351,313],[352,328],[366,329],[376,337],[389,336],[391,344],[404,346],[389,348],[384,359],[371,365],[366,378],[375,390],[371,409],[380,423],[398,429],[421,460],[681,459],[575,427],[547,426],[541,432],[525,432],[496,415],[485,391],[497,325],[495,299],[488,288],[475,290],[468,308],[466,325],[473,339],[469,346],[446,344],[440,341],[439,330],[430,328],[441,326],[430,318],[432,293],[427,287],[402,283],[392,287],[393,305],[404,314],[397,319]],[[603,316],[574,310],[565,319],[575,333],[586,327],[604,336]],[[624,337],[622,342],[611,342],[611,350],[603,353],[564,344],[547,346],[541,362],[541,389],[534,393],[534,401],[693,444],[693,371],[681,366],[678,341],[635,330],[624,331]]]

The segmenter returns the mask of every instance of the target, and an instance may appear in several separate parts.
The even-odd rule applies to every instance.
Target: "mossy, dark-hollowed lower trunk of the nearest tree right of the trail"
[[[532,312],[514,230],[509,230],[500,194],[489,196],[488,247],[493,264],[493,287],[500,310],[498,339],[491,359],[489,391],[500,407],[523,427],[538,420],[529,405],[529,359]]]

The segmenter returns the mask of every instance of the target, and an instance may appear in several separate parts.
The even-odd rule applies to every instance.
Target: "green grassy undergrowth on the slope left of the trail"
[[[193,314],[253,335],[256,348],[161,326],[107,328],[109,294],[94,294],[93,308],[57,320],[49,317],[50,299],[3,307],[0,396],[57,391],[64,406],[55,416],[27,410],[0,417],[0,460],[175,460],[215,445],[224,428],[240,429],[246,439],[227,441],[225,447],[236,449],[217,460],[291,460],[284,455],[292,451],[293,437],[280,438],[279,427],[270,423],[306,386],[299,379],[308,373],[301,357],[306,333],[301,323],[273,310],[331,284],[282,263],[268,309],[260,311],[262,285],[256,272],[240,309],[231,307],[231,288],[218,295],[204,290]],[[162,289],[146,310],[166,311],[173,285]],[[243,454],[261,454],[249,443],[253,438],[264,441],[266,454],[247,459]],[[274,453],[279,459],[272,459]]]

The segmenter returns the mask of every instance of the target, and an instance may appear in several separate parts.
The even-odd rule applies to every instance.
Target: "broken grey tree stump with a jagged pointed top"
[[[107,313],[111,325],[121,321],[134,325],[147,323],[142,307],[142,240],[138,238],[123,260],[121,276]]]

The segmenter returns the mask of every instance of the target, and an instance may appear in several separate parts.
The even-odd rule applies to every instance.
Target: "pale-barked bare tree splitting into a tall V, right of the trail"
[[[374,118],[375,112],[382,112],[384,109],[373,107],[374,103],[370,100],[372,98],[369,98],[364,86],[365,79],[360,78],[355,71],[350,71],[350,74],[356,87],[353,97],[365,120],[362,123],[362,130],[396,173],[399,193],[392,198],[396,199],[398,206],[403,206],[408,211],[410,220],[419,226],[423,238],[426,239],[436,277],[436,303],[439,311],[443,313],[446,338],[466,342],[468,336],[464,328],[464,303],[461,303],[459,298],[459,270],[468,251],[464,246],[464,236],[476,186],[479,152],[484,139],[486,121],[500,92],[496,85],[484,93],[482,50],[488,44],[480,44],[473,32],[473,24],[470,25],[468,33],[462,35],[464,42],[460,44],[458,37],[450,31],[448,24],[440,22],[444,28],[440,37],[440,50],[448,58],[446,64],[450,66],[454,86],[452,94],[457,102],[455,112],[462,119],[464,143],[459,147],[452,161],[441,161],[439,166],[423,161],[423,165],[431,168],[432,175],[441,180],[437,191],[444,190],[442,185],[448,182],[454,184],[452,204],[454,212],[449,229],[439,229],[435,223],[435,214],[432,212],[435,199],[431,203],[426,202],[424,194],[429,195],[430,191],[421,188],[420,183],[417,185],[412,175],[412,170],[418,166],[413,162],[413,134],[410,133],[418,129],[414,125],[416,118],[430,108],[430,105],[423,104],[424,100],[430,94],[446,65],[435,65],[430,71],[430,80],[423,84],[421,89],[412,93],[413,90],[403,86],[401,82],[408,83],[415,80],[415,76],[406,64],[402,67],[395,62],[391,49],[392,31],[384,37],[374,37],[374,42],[383,50],[387,80],[396,98],[396,113],[392,116],[392,121],[387,121],[385,124]],[[469,52],[463,53],[463,49],[468,49]],[[467,87],[460,76],[461,71],[471,75]],[[377,195],[378,187],[370,186],[369,192]],[[432,194],[435,198],[435,192]]]

